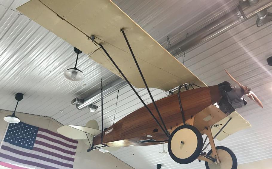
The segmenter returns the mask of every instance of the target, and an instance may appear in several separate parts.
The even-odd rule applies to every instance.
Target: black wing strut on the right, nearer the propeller
[[[151,100],[152,100],[152,102],[153,102],[153,104],[154,104],[154,107],[155,107],[156,111],[158,112],[158,115],[159,115],[159,117],[160,117],[160,119],[161,119],[161,123],[163,124],[163,127],[164,127],[165,131],[167,131],[167,128],[166,128],[166,126],[165,126],[165,123],[163,122],[163,119],[162,119],[162,117],[161,117],[161,113],[159,112],[159,109],[158,109],[158,107],[157,107],[157,105],[156,105],[156,103],[155,103],[155,101],[154,101],[154,99],[153,99],[153,97],[152,97],[152,94],[151,94],[151,92],[150,92],[150,90],[149,90],[149,88],[148,88],[148,85],[147,85],[147,83],[146,83],[146,80],[145,80],[144,77],[143,77],[143,73],[142,73],[142,71],[141,71],[141,69],[140,69],[140,66],[139,66],[139,64],[138,64],[138,62],[137,62],[137,60],[136,60],[136,57],[135,57],[135,55],[134,55],[134,53],[133,53],[133,51],[132,51],[132,48],[131,48],[131,46],[130,46],[130,44],[129,44],[129,41],[128,41],[127,37],[126,37],[126,34],[125,34],[125,32],[124,32],[123,29],[121,29],[121,31],[122,31],[122,33],[123,33],[123,36],[124,36],[125,40],[126,40],[126,44],[127,44],[128,47],[129,47],[129,51],[130,51],[130,53],[131,53],[131,55],[132,55],[132,57],[133,57],[133,60],[134,60],[136,66],[137,66],[137,68],[138,68],[138,71],[139,71],[139,73],[140,73],[140,75],[141,75],[141,77],[142,77],[142,79],[143,79],[143,83],[144,83],[144,85],[146,86],[146,90],[148,91],[149,96],[150,96],[150,98],[151,98]]]

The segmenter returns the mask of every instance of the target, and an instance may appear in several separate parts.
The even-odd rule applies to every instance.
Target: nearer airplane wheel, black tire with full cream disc
[[[176,128],[168,140],[168,152],[177,163],[193,162],[201,153],[203,139],[197,128],[182,125]]]

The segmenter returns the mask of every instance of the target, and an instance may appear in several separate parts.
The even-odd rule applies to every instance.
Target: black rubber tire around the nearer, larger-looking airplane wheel
[[[192,131],[195,133],[195,135],[196,135],[196,137],[197,137],[198,143],[197,143],[197,146],[196,146],[196,149],[195,149],[194,153],[193,153],[190,157],[188,157],[188,158],[186,158],[186,159],[180,159],[180,158],[176,157],[176,156],[173,154],[172,150],[171,150],[171,140],[172,140],[173,135],[174,135],[178,130],[184,129],[184,128],[190,129],[190,130],[192,130]],[[171,157],[175,162],[180,163],[180,164],[188,164],[188,163],[190,163],[190,162],[195,161],[195,159],[197,159],[197,157],[198,157],[199,154],[201,153],[201,151],[202,151],[202,146],[203,146],[203,138],[202,138],[201,133],[198,131],[197,128],[195,128],[195,126],[191,126],[191,125],[187,125],[187,124],[186,124],[186,125],[179,126],[178,128],[176,128],[176,129],[171,133],[167,145],[168,145],[168,152],[169,152],[169,155],[170,155],[170,157]]]

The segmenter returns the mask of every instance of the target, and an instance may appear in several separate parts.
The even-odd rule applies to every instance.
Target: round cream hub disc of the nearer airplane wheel
[[[179,159],[190,157],[196,150],[198,140],[191,129],[180,129],[172,137],[171,150]]]

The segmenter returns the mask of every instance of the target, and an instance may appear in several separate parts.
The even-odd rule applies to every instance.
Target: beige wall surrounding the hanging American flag
[[[7,122],[3,120],[6,115],[11,115],[12,112],[0,110],[0,140],[4,137],[4,132],[7,127]],[[44,129],[57,132],[57,129],[62,126],[54,119],[36,115],[28,115],[16,113],[16,116],[24,123],[41,127]],[[88,145],[79,140],[74,162],[74,169],[132,169],[129,165],[117,159],[109,153],[102,153],[98,150],[87,152]]]

